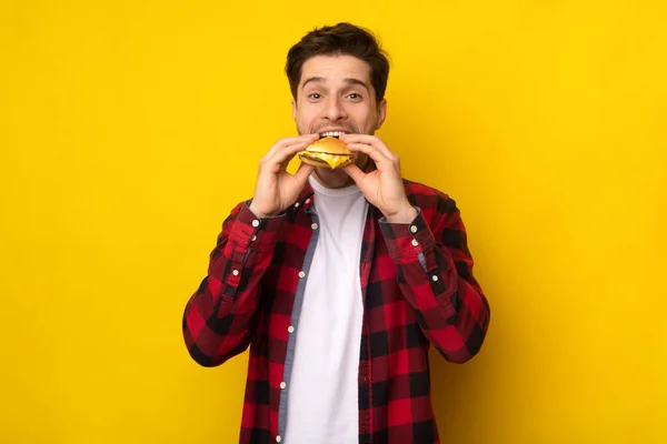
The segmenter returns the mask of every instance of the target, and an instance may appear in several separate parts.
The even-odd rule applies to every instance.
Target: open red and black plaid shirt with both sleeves
[[[455,201],[422,184],[405,185],[417,218],[409,224],[388,223],[369,205],[364,231],[362,444],[439,443],[429,345],[446,360],[464,363],[479,351],[490,317]],[[307,183],[281,215],[261,220],[249,202],[239,203],[225,220],[208,274],[185,310],[185,342],[199,364],[220,365],[250,345],[241,444],[282,441],[283,392],[317,242],[312,199]]]

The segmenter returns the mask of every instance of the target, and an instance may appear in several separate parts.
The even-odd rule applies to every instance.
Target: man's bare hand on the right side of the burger
[[[344,167],[366,199],[385,214],[388,222],[412,222],[417,210],[406,195],[398,155],[376,135],[345,134],[340,140],[347,143],[350,151],[360,151],[376,163],[377,170],[369,173],[365,173],[355,164]]]

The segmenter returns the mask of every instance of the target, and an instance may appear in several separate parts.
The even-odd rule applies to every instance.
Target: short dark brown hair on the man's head
[[[342,22],[315,29],[291,47],[287,53],[285,73],[295,99],[301,80],[301,67],[315,56],[354,56],[364,60],[370,65],[377,103],[385,98],[389,78],[388,54],[369,30]]]

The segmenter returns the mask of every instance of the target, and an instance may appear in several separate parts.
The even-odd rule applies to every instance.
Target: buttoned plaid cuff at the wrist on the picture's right
[[[426,224],[419,206],[415,206],[417,216],[410,223],[390,223],[380,218],[380,229],[387,243],[387,250],[394,259],[415,259],[434,250],[436,240]]]

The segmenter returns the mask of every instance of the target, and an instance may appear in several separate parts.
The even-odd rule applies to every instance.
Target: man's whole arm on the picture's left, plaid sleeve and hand
[[[188,351],[205,366],[243,352],[257,327],[260,281],[271,259],[283,211],[308,181],[313,167],[295,174],[289,161],[319,134],[279,140],[259,162],[252,201],[239,203],[225,220],[208,274],[190,297],[182,329]]]

